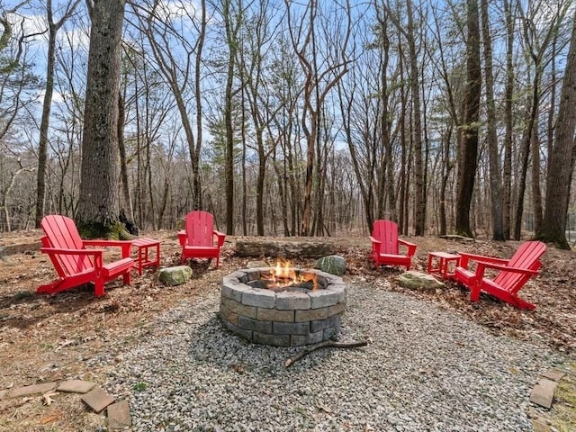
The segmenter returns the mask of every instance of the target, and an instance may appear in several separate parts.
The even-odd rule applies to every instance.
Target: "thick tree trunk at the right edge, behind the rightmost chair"
[[[536,238],[570,249],[566,240],[566,220],[574,160],[574,130],[576,130],[576,12],[572,20],[572,39],[566,59],[554,148],[550,155],[546,187],[546,204],[542,229]],[[571,163],[566,163],[568,160]]]

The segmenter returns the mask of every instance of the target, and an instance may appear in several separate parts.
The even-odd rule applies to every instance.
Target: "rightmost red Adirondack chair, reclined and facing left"
[[[527,241],[518,247],[510,259],[483,257],[482,255],[459,253],[460,262],[455,268],[455,279],[470,289],[470,300],[478,302],[480,293],[489,293],[519,309],[536,309],[536,305],[518,297],[518,291],[532,276],[538,275],[542,266],[540,257],[546,245],[541,241]],[[473,270],[471,262],[476,262]],[[497,270],[493,279],[486,277],[486,269]]]

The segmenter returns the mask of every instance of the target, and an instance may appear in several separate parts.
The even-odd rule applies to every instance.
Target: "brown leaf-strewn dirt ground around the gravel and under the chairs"
[[[146,237],[162,240],[162,266],[180,262],[180,247],[175,232],[148,232]],[[125,349],[139,343],[138,335],[154,316],[171,306],[218,290],[223,275],[247,265],[251,259],[235,257],[236,238],[227,238],[220,268],[213,263],[192,262],[193,280],[166,287],[157,282],[157,272],[148,269],[133,275],[131,286],[121,279],[106,284],[106,295],[95,298],[90,286],[56,295],[37,295],[40,284],[48,284],[56,273],[48,257],[40,254],[40,230],[3,234],[0,239],[0,394],[5,389],[64,379],[83,379],[103,383],[108,366],[94,365],[94,358],[119,344]],[[311,239],[307,238],[307,241]],[[549,246],[541,274],[521,291],[536,311],[519,311],[506,303],[482,294],[472,303],[464,288],[447,284],[434,292],[410,291],[395,283],[400,269],[374,269],[367,236],[317,238],[332,242],[335,253],[347,258],[347,275],[366,284],[383,279],[392,289],[455,311],[499,335],[545,343],[567,358],[576,354],[576,253]],[[426,270],[428,252],[468,251],[493,257],[510,257],[519,242],[496,243],[477,239],[455,242],[441,238],[410,238],[419,245],[416,269]],[[108,253],[108,258],[113,257]],[[271,263],[273,259],[271,258]],[[293,260],[294,266],[312,266],[313,260]],[[576,390],[576,389],[574,389]],[[573,398],[573,393],[570,393]],[[2,398],[0,398],[2,399]],[[0,431],[78,431],[103,430],[103,415],[90,413],[80,397],[61,394],[53,401],[41,395],[0,401]],[[562,403],[563,401],[559,401]],[[569,404],[570,410],[570,404]],[[572,405],[570,415],[576,408]],[[554,410],[551,411],[554,417]],[[574,424],[572,424],[574,426]],[[100,429],[99,429],[100,428]],[[563,430],[563,429],[560,429]],[[576,430],[565,429],[565,430]]]

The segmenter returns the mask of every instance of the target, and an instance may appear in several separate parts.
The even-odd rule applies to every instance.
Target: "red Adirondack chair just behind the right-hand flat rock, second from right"
[[[418,246],[398,238],[398,225],[395,222],[383,219],[374,221],[370,241],[372,241],[372,259],[376,267],[406,266],[406,270],[410,270],[412,257],[416,254]],[[407,249],[405,255],[401,255],[400,246]]]

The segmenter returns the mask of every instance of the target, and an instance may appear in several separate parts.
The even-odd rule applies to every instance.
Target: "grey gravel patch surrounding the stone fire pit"
[[[369,345],[285,369],[302,348],[248,345],[221,328],[219,303],[214,289],[95,360],[111,365],[106,389],[130,401],[134,431],[531,431],[530,391],[563,360],[356,279],[338,340]]]

